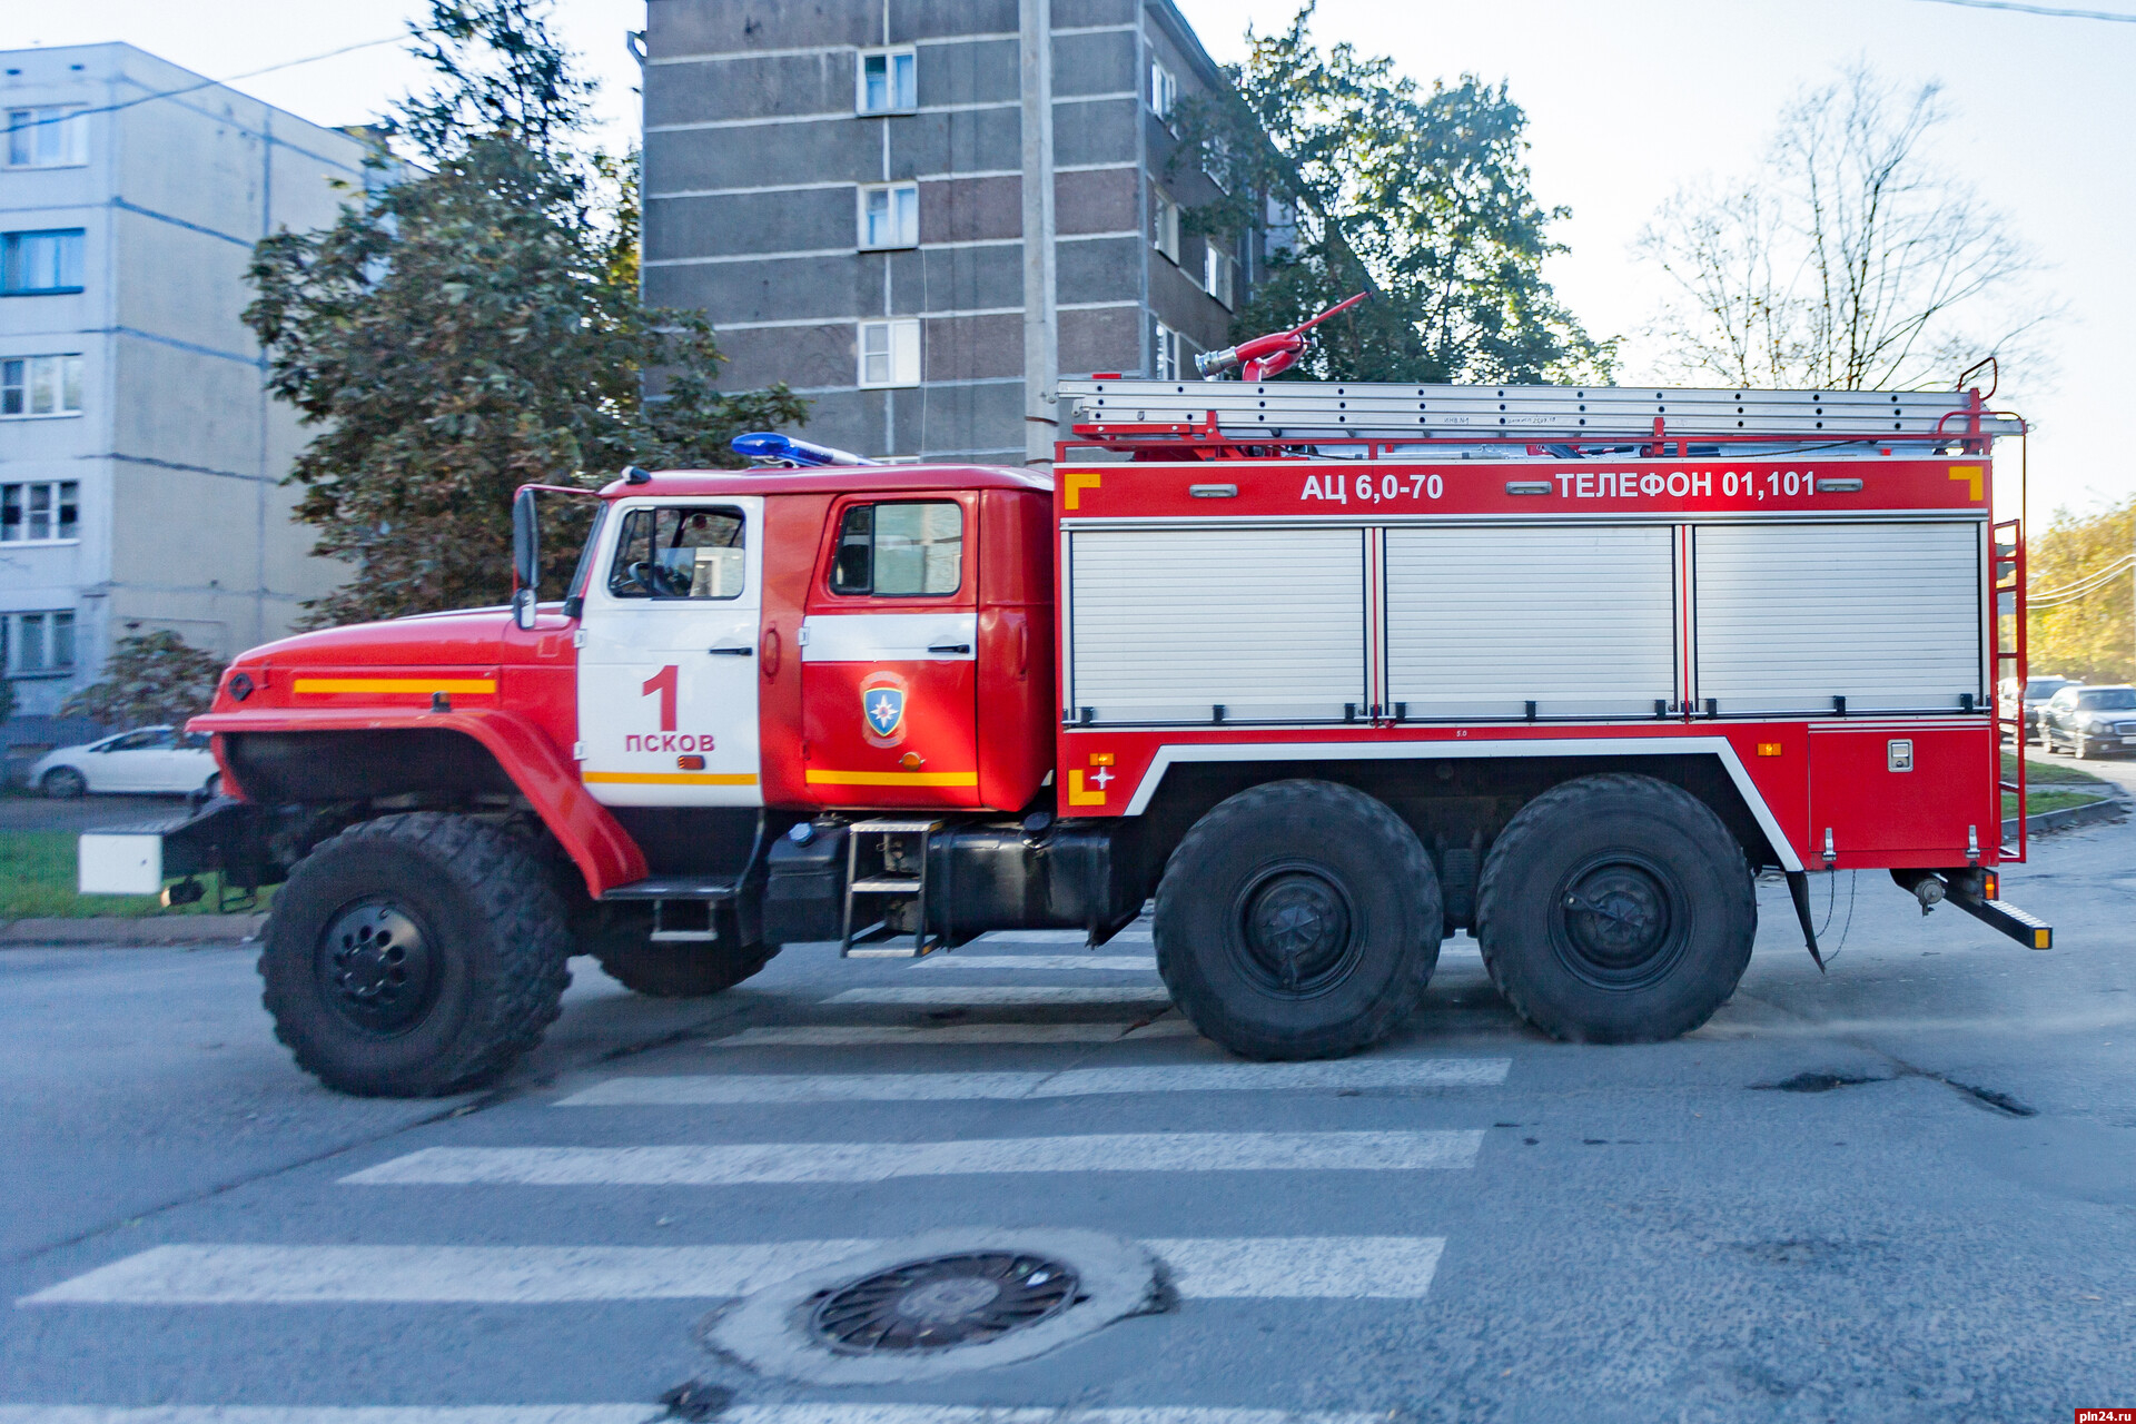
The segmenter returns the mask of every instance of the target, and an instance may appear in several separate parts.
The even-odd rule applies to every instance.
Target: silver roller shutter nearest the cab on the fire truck
[[[1358,529],[1068,540],[1066,707],[1091,722],[1341,722],[1365,700]]]

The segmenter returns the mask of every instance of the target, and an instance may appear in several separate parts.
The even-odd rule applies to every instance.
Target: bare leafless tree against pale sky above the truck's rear
[[[1865,66],[1796,94],[1756,173],[1681,188],[1634,252],[1672,282],[1651,335],[1737,386],[1948,386],[1997,357],[2038,365],[2053,312],[2010,224],[1929,158],[1942,90]]]

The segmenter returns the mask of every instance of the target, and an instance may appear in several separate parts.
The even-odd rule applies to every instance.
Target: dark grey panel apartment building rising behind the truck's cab
[[[1256,237],[1166,124],[1224,83],[1171,0],[649,0],[645,297],[822,444],[1051,459],[1057,376],[1226,344]]]

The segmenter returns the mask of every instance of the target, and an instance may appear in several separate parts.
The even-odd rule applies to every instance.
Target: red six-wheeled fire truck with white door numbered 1
[[[229,796],[85,837],[83,888],[280,886],[280,1038],[393,1095],[506,1067],[575,952],[703,995],[1151,897],[1179,1008],[1260,1059],[1386,1035],[1457,929],[1557,1038],[1683,1033],[1760,869],[1811,954],[1854,869],[2048,946],[1995,890],[2021,423],[1976,389],[1059,401],[1051,476],[628,470],[555,602],[521,491],[513,606],[246,653],[192,724]]]

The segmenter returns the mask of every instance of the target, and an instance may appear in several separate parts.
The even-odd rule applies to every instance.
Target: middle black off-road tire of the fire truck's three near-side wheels
[[[1440,877],[1361,790],[1269,781],[1203,816],[1158,884],[1158,971],[1245,1059],[1329,1059],[1395,1031],[1440,961]]]

